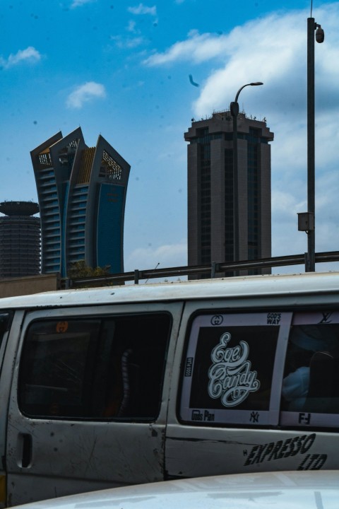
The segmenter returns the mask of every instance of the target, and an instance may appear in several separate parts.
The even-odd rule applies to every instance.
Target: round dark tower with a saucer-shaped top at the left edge
[[[32,201],[0,203],[0,279],[40,274],[38,212]]]

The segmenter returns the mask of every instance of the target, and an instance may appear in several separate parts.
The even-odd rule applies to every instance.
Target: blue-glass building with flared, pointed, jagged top
[[[73,262],[124,271],[124,209],[130,165],[99,136],[88,147],[81,128],[31,151],[42,226],[42,274],[67,275]]]

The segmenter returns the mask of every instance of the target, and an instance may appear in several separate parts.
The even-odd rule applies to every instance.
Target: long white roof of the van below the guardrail
[[[0,298],[0,310],[253,296],[317,296],[319,293],[339,294],[339,272],[237,276],[52,291]]]

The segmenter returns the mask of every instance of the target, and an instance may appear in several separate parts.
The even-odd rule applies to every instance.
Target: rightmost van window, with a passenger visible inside
[[[312,414],[339,414],[338,312],[305,312],[293,317],[281,410],[302,415],[297,417],[299,425],[316,425]],[[317,421],[320,425],[319,418]],[[331,421],[325,416],[323,426],[331,426]]]

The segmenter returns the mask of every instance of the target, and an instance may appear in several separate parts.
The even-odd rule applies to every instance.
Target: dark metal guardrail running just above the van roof
[[[122,272],[121,274],[112,274],[109,276],[90,276],[85,278],[64,279],[64,288],[79,288],[84,285],[89,286],[109,286],[113,284],[122,284],[125,281],[134,281],[138,284],[140,280],[167,278],[175,276],[192,276],[194,274],[209,274],[211,278],[222,276],[225,273],[234,273],[235,271],[249,269],[271,269],[272,267],[287,267],[289,265],[305,264],[307,253],[291,254],[283,257],[262,258],[257,260],[244,260],[241,262],[225,262],[183,266],[166,267],[164,269],[146,269],[131,272]],[[339,251],[328,251],[316,253],[316,263],[338,262]]]

